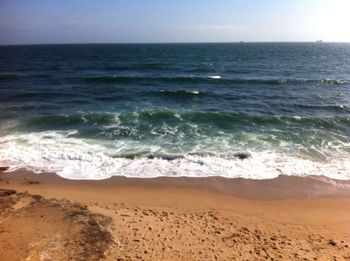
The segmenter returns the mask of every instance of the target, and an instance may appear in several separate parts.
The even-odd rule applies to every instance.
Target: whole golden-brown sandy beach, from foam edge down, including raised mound
[[[0,260],[350,260],[349,187],[0,172]]]

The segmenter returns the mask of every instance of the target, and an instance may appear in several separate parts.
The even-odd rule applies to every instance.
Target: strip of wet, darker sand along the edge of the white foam
[[[112,176],[102,180],[72,180],[55,173],[34,173],[26,169],[1,172],[0,178],[18,184],[46,184],[117,188],[136,186],[145,189],[194,189],[253,200],[288,200],[310,198],[350,198],[350,180],[336,180],[325,176],[286,176],[273,179],[245,179],[225,177],[155,177],[137,178]]]

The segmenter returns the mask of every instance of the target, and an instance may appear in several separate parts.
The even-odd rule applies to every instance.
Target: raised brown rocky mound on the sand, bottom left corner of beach
[[[0,260],[101,260],[112,220],[67,200],[0,190]]]

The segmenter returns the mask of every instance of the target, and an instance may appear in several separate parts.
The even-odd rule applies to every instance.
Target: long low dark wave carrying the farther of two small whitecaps
[[[220,83],[220,84],[267,84],[267,85],[284,85],[284,84],[320,84],[320,85],[343,85],[348,81],[339,79],[244,79],[244,78],[224,78],[220,75],[209,76],[97,76],[86,77],[84,80],[88,83],[142,83],[142,82],[163,82],[163,83]]]

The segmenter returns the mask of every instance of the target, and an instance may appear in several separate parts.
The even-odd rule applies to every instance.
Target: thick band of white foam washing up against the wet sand
[[[0,164],[10,170],[27,168],[35,172],[56,172],[67,179],[98,180],[111,176],[138,178],[207,177],[271,179],[289,176],[324,175],[350,179],[349,157],[336,156],[327,162],[314,161],[274,151],[250,151],[251,157],[191,156],[174,160],[146,157],[134,160],[115,157],[137,142],[97,142],[74,138],[74,132],[13,134],[0,138]],[[159,147],[147,147],[150,152]],[[139,148],[142,151],[143,148]]]

